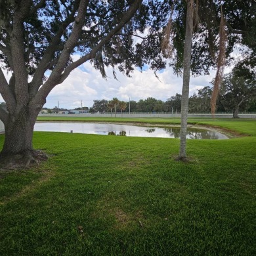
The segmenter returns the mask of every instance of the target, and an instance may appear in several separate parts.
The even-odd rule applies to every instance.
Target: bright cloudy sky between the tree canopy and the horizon
[[[117,72],[117,71],[116,71]],[[140,72],[135,70],[132,77],[117,72],[117,79],[114,79],[112,68],[107,68],[106,73],[108,79],[102,78],[99,71],[95,70],[89,62],[84,63],[79,68],[75,69],[70,76],[60,85],[57,85],[47,97],[46,108],[73,109],[81,106],[93,106],[93,100],[111,100],[116,97],[119,100],[138,101],[140,98],[154,97],[160,100],[181,93],[182,77],[177,77],[173,74],[171,68],[167,68],[158,74],[156,78],[151,70]],[[9,80],[11,74],[7,74]],[[215,76],[215,71],[210,75],[201,75],[191,77],[190,79],[190,95],[196,93],[198,89],[210,85],[210,81]],[[3,98],[0,96],[0,102]]]

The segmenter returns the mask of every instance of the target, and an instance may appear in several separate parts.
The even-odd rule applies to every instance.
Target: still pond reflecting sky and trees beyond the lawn
[[[127,137],[179,138],[180,127],[143,127],[113,123],[37,122],[34,131],[57,131]],[[187,139],[228,139],[225,135],[206,129],[188,128]]]

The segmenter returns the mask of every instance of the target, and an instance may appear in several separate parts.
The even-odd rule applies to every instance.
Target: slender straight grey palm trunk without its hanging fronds
[[[181,97],[181,144],[179,159],[186,159],[186,126],[188,123],[188,93],[190,82],[190,66],[191,66],[191,45],[193,34],[193,0],[187,0],[186,9],[186,34],[184,42],[183,56],[183,86]]]

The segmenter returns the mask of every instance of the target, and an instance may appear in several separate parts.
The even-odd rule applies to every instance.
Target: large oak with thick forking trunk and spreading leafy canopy
[[[51,90],[84,62],[91,61],[103,77],[104,66],[113,67],[114,77],[115,67],[126,75],[144,62],[154,70],[164,67],[156,45],[165,5],[169,3],[1,0],[0,93],[7,104],[7,111],[0,108],[5,125],[1,161],[18,154],[28,164],[39,157],[32,146],[37,115]],[[141,42],[134,43],[135,37]],[[72,60],[74,53],[80,58]],[[11,72],[9,81],[3,69]]]

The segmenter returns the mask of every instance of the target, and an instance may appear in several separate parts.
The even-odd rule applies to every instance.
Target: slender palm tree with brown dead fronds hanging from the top
[[[200,18],[198,16],[198,9],[199,3],[202,7],[203,14],[207,15],[206,22],[207,26],[211,29],[216,28],[216,20],[217,16],[212,9],[213,6],[205,5],[205,2],[208,1],[201,1],[198,0],[186,0],[186,32],[185,32],[185,39],[184,39],[184,49],[183,49],[183,86],[182,86],[182,99],[181,99],[181,144],[180,144],[180,152],[179,152],[179,160],[186,160],[186,127],[188,122],[188,93],[189,93],[189,83],[190,83],[190,70],[191,70],[191,49],[192,49],[192,35],[193,35],[193,28],[198,27]],[[213,4],[213,1],[210,1]],[[204,4],[203,4],[204,3]],[[164,34],[163,34],[163,41],[161,45],[161,51],[163,56],[169,58],[172,53],[173,49],[169,43],[169,37],[171,36],[172,30],[172,14],[173,14],[173,7],[171,7],[171,16],[169,23],[167,24]],[[194,16],[195,15],[195,16]],[[196,24],[194,24],[194,21]],[[222,10],[222,3],[221,3],[221,24],[219,28],[219,56],[217,60],[217,74],[215,77],[215,83],[213,87],[213,94],[211,98],[211,111],[212,113],[215,112],[216,100],[219,93],[219,85],[221,83],[221,77],[223,75],[223,68],[225,62],[225,45],[226,45],[226,33],[224,30],[225,22]],[[208,29],[208,32],[210,30]],[[214,37],[214,35],[211,35]],[[209,35],[210,37],[210,35]],[[211,55],[214,57],[214,47],[212,42],[214,40],[209,39],[209,50]],[[180,48],[181,49],[181,48]],[[180,54],[182,56],[182,54]],[[179,65],[178,65],[179,66]],[[179,72],[179,68],[177,68],[177,72]]]

